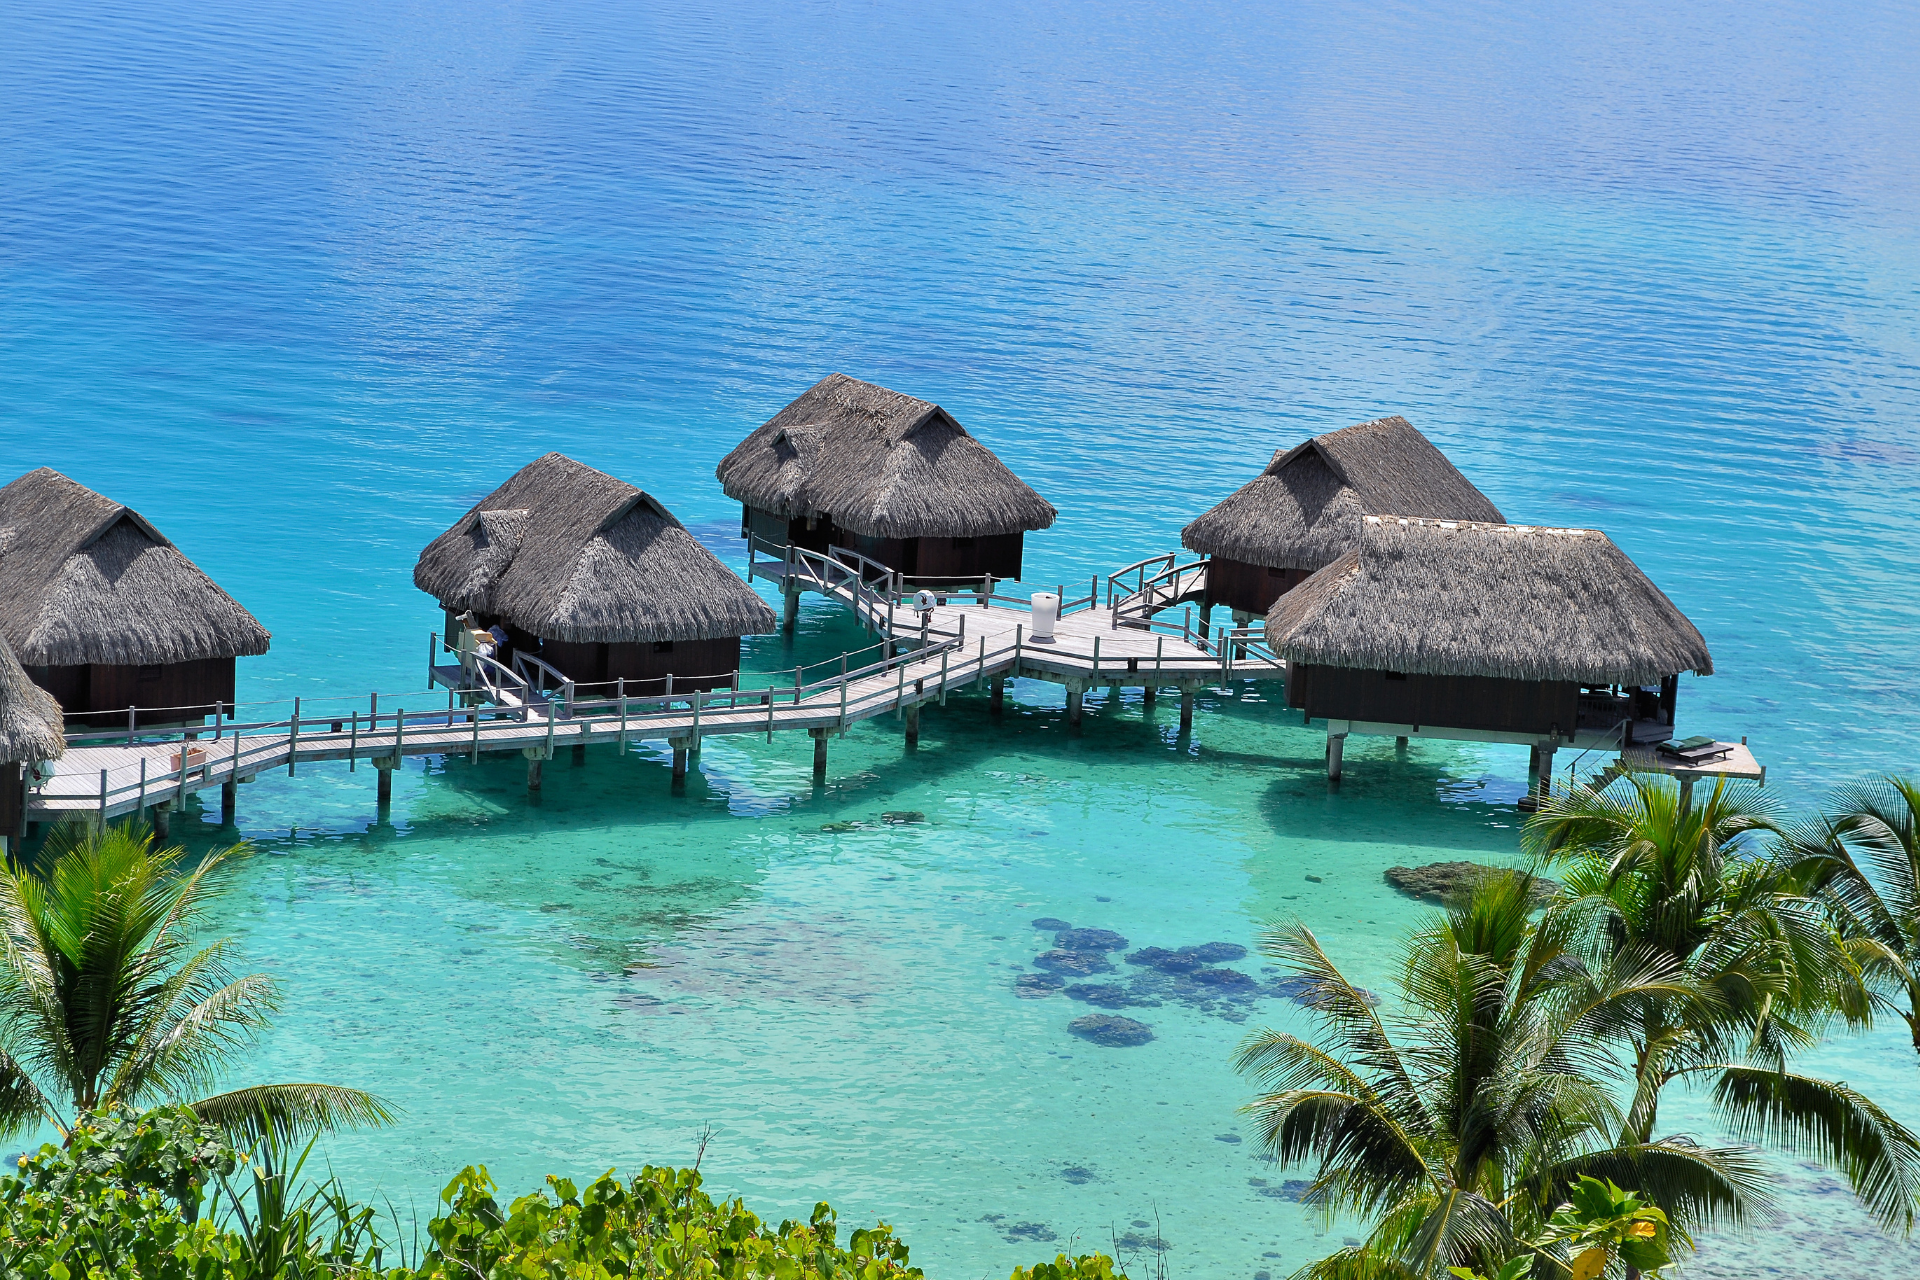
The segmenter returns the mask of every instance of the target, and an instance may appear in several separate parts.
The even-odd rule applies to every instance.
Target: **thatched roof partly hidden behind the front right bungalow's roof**
[[[1273,455],[1267,470],[1185,530],[1206,555],[1313,570],[1354,545],[1361,516],[1505,516],[1402,416],[1361,422]]]

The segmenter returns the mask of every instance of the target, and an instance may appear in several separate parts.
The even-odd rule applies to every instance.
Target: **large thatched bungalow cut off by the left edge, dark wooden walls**
[[[232,708],[267,628],[140,512],[52,468],[0,487],[0,639],[69,722],[198,723]]]

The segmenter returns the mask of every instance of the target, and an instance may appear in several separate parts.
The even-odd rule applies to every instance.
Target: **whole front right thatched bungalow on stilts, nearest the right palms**
[[[1622,748],[1672,735],[1707,641],[1597,530],[1365,516],[1267,612],[1286,704],[1348,733]]]

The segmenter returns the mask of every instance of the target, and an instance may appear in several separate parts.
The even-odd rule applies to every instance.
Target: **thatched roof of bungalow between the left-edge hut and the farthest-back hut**
[[[413,583],[445,608],[557,641],[720,639],[778,626],[660,503],[561,453],[516,470],[430,541]]]

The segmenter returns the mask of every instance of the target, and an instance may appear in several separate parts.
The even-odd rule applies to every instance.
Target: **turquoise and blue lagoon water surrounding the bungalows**
[[[0,0],[0,472],[134,503],[246,601],[263,712],[430,704],[413,558],[543,449],[737,564],[712,464],[839,368],[1060,507],[1031,585],[1405,413],[1509,518],[1638,558],[1718,666],[1684,727],[1749,735],[1782,802],[1920,764],[1901,6]],[[810,603],[749,660],[858,643]],[[263,777],[225,923],[286,1011],[242,1075],[399,1103],[328,1155],[422,1215],[467,1161],[520,1190],[710,1125],[720,1188],[885,1217],[937,1276],[1116,1238],[1140,1270],[1156,1232],[1177,1276],[1284,1274],[1352,1230],[1227,1140],[1227,1057],[1294,1006],[1165,1004],[1102,1050],[1012,990],[1041,915],[1167,946],[1300,915],[1382,984],[1419,917],[1386,865],[1515,854],[1519,752],[1365,743],[1329,791],[1269,693],[1190,739],[958,697],[918,754],[835,741],[826,789],[791,739],[708,745],[680,796],[659,745],[538,800],[516,758],[413,764],[388,823],[367,771]],[[1920,1123],[1891,1031],[1814,1065]],[[1788,1230],[1695,1274],[1920,1261],[1780,1178]]]

